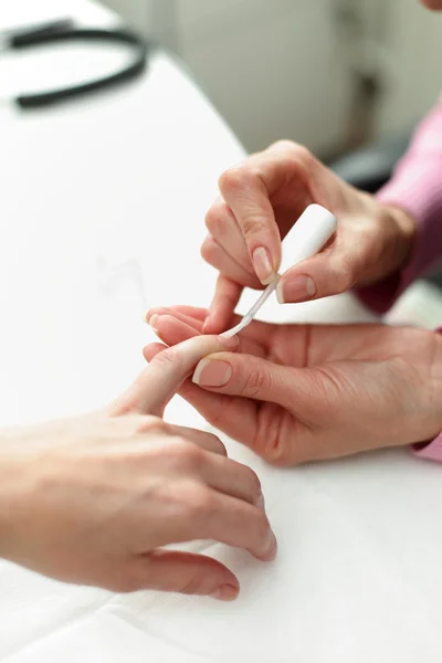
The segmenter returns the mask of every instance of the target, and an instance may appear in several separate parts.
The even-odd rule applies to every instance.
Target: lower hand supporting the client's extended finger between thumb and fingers
[[[200,334],[206,314],[159,308],[148,319],[173,345]],[[239,351],[202,359],[180,393],[212,425],[271,463],[411,444],[442,430],[440,335],[254,322],[239,337]],[[158,351],[158,345],[147,346],[146,359]]]

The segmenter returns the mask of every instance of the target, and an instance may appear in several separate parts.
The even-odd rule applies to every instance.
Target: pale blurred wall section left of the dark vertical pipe
[[[330,0],[181,0],[182,56],[250,149],[345,134],[349,77]]]

